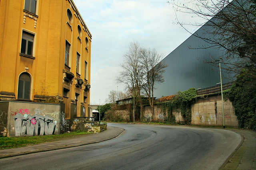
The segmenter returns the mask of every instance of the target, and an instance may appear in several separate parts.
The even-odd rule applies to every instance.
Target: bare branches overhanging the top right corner
[[[247,76],[256,78],[256,0],[173,0],[168,3],[177,13],[192,14],[203,21],[183,23],[176,18],[176,23],[206,42],[207,45],[198,48],[222,49],[223,69],[239,74],[242,69],[250,68]],[[192,33],[188,25],[204,25],[205,29],[203,33]],[[215,60],[206,62],[217,65]]]

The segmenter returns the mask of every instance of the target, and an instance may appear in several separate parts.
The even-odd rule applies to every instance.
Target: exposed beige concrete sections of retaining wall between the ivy
[[[123,117],[126,117],[127,114],[122,113],[124,113]],[[162,106],[154,106],[154,114],[154,121],[164,121],[168,115],[167,111],[163,112]],[[176,122],[184,121],[180,111],[174,111],[172,114],[175,116]],[[223,126],[221,95],[197,98],[196,103],[191,106],[191,115],[191,125]],[[143,119],[142,121],[152,121],[150,106],[144,107]],[[238,127],[238,120],[229,100],[224,102],[224,119],[226,127]]]

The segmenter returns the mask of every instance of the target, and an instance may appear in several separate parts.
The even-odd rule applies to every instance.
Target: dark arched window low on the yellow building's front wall
[[[31,78],[28,73],[23,72],[19,77],[18,99],[30,100]]]

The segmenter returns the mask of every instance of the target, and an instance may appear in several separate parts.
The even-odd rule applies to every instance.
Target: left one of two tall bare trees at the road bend
[[[141,102],[141,85],[143,67],[140,64],[140,45],[137,41],[133,41],[129,45],[129,49],[123,55],[124,62],[120,64],[122,70],[119,76],[116,77],[118,84],[124,84],[127,90],[132,90],[133,96],[136,98],[134,101],[135,108],[140,105],[140,118],[142,116],[142,102]],[[138,99],[138,100],[137,100]]]

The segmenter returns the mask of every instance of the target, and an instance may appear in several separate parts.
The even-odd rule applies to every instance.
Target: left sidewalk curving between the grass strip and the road
[[[0,150],[0,159],[37,152],[46,152],[50,150],[78,147],[82,145],[89,145],[92,143],[99,143],[102,141],[113,139],[120,135],[123,131],[124,129],[108,126],[108,130],[101,133],[86,135],[86,137],[76,137],[74,139],[67,139],[51,143],[42,143],[37,145],[31,145],[28,147],[4,149]]]

